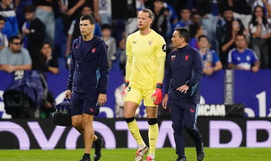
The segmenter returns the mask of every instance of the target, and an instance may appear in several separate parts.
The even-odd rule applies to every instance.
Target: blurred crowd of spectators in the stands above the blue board
[[[205,75],[271,67],[271,0],[135,0],[135,7],[154,13],[151,28],[164,37],[167,54],[174,28],[189,29]],[[125,70],[126,33],[138,31],[137,18],[112,19],[112,12],[111,0],[1,0],[0,70],[69,69],[85,14],[95,17],[93,34],[107,44],[111,70]]]

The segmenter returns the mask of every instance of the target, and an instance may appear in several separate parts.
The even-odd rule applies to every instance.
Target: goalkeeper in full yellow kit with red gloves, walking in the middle
[[[135,122],[135,110],[144,100],[149,124],[150,151],[147,161],[154,161],[154,153],[158,138],[157,108],[162,101],[162,84],[166,59],[166,43],[164,38],[150,29],[154,14],[149,9],[138,13],[138,32],[128,36],[126,42],[126,82],[123,92],[124,117],[131,134],[138,143],[135,161],[143,160],[149,151],[140,136],[138,124]]]

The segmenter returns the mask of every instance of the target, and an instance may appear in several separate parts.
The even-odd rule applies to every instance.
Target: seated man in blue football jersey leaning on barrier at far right
[[[228,67],[234,70],[258,72],[260,61],[253,50],[246,48],[244,34],[237,34],[235,44],[237,47],[229,52],[227,58]]]

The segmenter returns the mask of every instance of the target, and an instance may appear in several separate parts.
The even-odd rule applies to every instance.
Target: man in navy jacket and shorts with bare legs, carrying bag
[[[92,15],[83,15],[79,26],[82,36],[72,44],[65,96],[72,97],[72,126],[84,135],[85,153],[80,161],[91,161],[92,143],[95,144],[94,161],[98,161],[105,141],[95,136],[93,118],[99,115],[100,106],[106,103],[109,71],[107,45],[92,34],[95,27]]]

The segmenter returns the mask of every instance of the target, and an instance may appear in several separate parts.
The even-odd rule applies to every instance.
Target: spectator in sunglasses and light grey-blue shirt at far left
[[[9,47],[0,51],[0,70],[14,72],[14,70],[31,70],[32,60],[27,49],[22,48],[20,37],[9,39]]]

